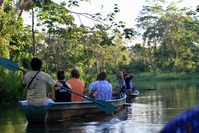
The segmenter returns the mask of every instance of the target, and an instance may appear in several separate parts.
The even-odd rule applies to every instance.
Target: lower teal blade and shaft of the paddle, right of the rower
[[[74,94],[76,94],[76,95],[78,95],[80,97],[83,97],[83,98],[85,98],[85,99],[87,99],[89,101],[92,101],[98,109],[100,109],[100,110],[102,110],[102,111],[104,111],[106,113],[113,113],[115,111],[115,107],[109,102],[106,102],[104,100],[93,100],[93,99],[90,99],[90,98],[88,98],[86,96],[83,96],[83,95],[81,95],[79,93],[76,93],[76,92],[70,90],[69,88],[62,87],[62,86],[59,86],[59,87],[61,87],[63,89],[66,89],[67,91],[69,91],[71,93],[74,93]]]

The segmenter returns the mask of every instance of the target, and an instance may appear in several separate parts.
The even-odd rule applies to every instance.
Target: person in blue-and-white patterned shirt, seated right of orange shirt
[[[111,100],[112,84],[106,80],[106,77],[106,72],[101,72],[99,74],[99,81],[93,85],[93,88],[88,95],[90,98],[93,98],[93,95],[95,94],[95,100]]]

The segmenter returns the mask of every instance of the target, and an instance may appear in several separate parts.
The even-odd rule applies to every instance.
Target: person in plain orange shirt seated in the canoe
[[[76,92],[80,95],[83,95],[85,91],[85,84],[80,80],[80,72],[76,68],[71,70],[70,79],[66,82],[71,85],[71,89],[73,92]],[[80,102],[83,101],[84,98],[72,93],[72,102]]]

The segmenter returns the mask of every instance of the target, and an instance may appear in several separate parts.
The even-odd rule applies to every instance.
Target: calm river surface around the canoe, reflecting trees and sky
[[[170,119],[199,102],[197,82],[135,82],[134,85],[139,96],[109,116],[28,124],[18,104],[0,105],[0,133],[158,133]]]

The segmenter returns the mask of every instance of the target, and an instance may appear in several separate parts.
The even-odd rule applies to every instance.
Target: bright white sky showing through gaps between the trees
[[[61,3],[64,0],[53,0],[56,3]],[[65,0],[66,1],[66,0]],[[167,0],[168,3],[176,2],[179,0]],[[135,28],[136,17],[139,15],[143,5],[146,5],[145,0],[91,0],[90,4],[88,2],[81,2],[80,7],[72,7],[69,10],[75,12],[83,12],[83,13],[97,13],[100,12],[101,6],[103,5],[103,12],[112,11],[114,4],[118,4],[120,12],[115,16],[115,21],[123,21],[126,23],[126,28]],[[193,10],[196,9],[196,6],[199,5],[199,0],[183,0],[179,7],[190,7]],[[23,16],[27,16],[27,12],[23,13]],[[74,14],[73,14],[74,15]],[[75,16],[75,15],[74,15]],[[81,17],[81,21],[76,15],[76,23],[91,26],[93,25],[93,21],[88,18]],[[25,24],[31,25],[31,19],[26,19]]]

